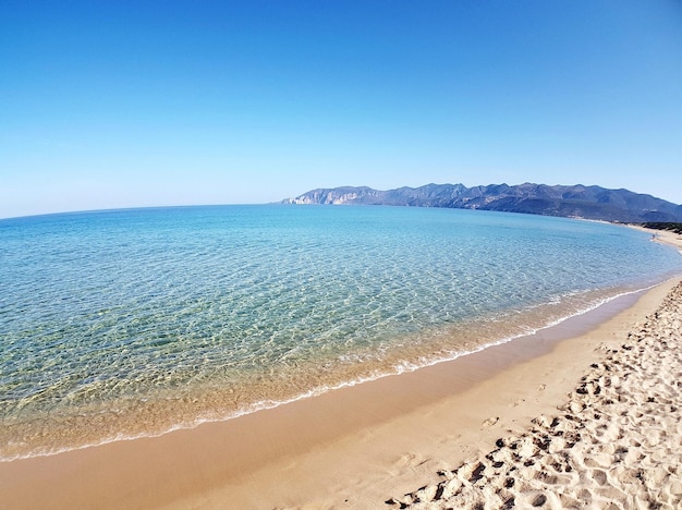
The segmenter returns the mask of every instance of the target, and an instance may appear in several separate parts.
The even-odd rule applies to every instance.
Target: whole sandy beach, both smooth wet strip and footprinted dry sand
[[[0,463],[0,508],[678,508],[681,341],[678,278],[414,373]]]

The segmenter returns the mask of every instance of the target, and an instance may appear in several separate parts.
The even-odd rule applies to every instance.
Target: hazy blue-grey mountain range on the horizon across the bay
[[[312,190],[282,203],[449,207],[634,223],[682,221],[681,205],[629,190],[582,184],[427,184],[387,191],[343,186]]]

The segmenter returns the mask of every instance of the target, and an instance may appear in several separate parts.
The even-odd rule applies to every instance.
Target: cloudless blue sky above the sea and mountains
[[[682,203],[680,1],[0,12],[0,217],[429,182]]]

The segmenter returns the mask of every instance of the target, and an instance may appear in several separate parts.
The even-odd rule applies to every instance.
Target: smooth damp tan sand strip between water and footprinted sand
[[[617,303],[451,362],[227,422],[0,463],[0,503],[377,508],[551,408],[594,357],[595,338],[620,341],[672,286],[631,296],[606,321]],[[557,374],[569,347],[580,361]]]

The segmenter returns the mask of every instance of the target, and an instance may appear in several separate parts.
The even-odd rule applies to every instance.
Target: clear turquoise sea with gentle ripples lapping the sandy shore
[[[625,227],[401,207],[0,220],[0,458],[453,359],[682,272]]]

